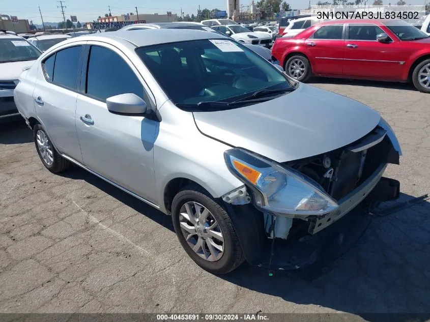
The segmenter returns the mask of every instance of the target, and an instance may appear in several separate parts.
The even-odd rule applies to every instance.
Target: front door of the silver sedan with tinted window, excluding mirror
[[[83,164],[121,187],[156,200],[154,141],[159,123],[140,115],[108,111],[106,99],[133,93],[152,100],[128,58],[113,46],[91,45],[83,94],[76,104],[76,130]]]

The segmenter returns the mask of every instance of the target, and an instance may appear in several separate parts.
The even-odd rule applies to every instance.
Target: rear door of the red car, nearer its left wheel
[[[304,42],[315,75],[342,75],[344,24],[323,25]]]

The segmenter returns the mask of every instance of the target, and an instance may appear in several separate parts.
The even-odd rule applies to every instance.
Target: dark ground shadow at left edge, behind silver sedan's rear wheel
[[[28,142],[33,142],[33,132],[27,128],[21,116],[10,122],[0,123],[0,144]]]

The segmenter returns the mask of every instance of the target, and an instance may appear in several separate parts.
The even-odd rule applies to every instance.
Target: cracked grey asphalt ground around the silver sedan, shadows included
[[[314,79],[377,109],[403,149],[386,177],[430,193],[430,95],[411,84]],[[126,164],[124,164],[126,166]],[[375,216],[331,270],[226,276],[186,255],[170,218],[73,167],[39,160],[23,122],[0,125],[0,312],[430,312],[430,202]]]

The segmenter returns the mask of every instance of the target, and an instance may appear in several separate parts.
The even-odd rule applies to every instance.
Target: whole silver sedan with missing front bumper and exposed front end
[[[171,215],[212,273],[340,253],[360,236],[362,209],[399,193],[382,175],[400,147],[378,112],[295,83],[222,35],[77,37],[19,80],[15,102],[45,167],[74,163]]]

